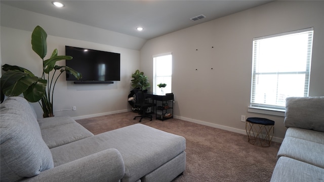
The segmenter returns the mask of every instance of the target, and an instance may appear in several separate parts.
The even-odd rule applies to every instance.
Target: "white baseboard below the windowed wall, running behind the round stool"
[[[214,127],[214,128],[224,129],[224,130],[227,130],[227,131],[232,131],[232,132],[245,134],[245,135],[247,134],[247,131],[244,130],[244,129],[237,129],[237,128],[233,128],[233,127],[229,127],[229,126],[224,126],[224,125],[220,125],[220,124],[210,123],[210,122],[206,122],[206,121],[200,121],[200,120],[181,117],[181,116],[176,116],[176,115],[173,115],[173,117],[176,118],[176,119],[181,119],[181,120],[184,120],[184,121],[189,121],[189,122],[193,122],[193,123],[197,123],[197,124],[201,124],[201,125],[205,125],[205,126],[211,126],[211,127]],[[274,137],[274,136],[272,138],[273,142],[282,143],[282,140],[284,140],[284,139],[280,139],[280,138],[277,138],[277,137]]]

